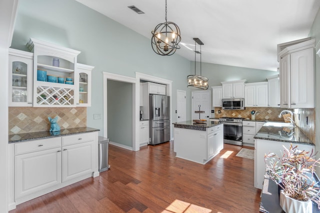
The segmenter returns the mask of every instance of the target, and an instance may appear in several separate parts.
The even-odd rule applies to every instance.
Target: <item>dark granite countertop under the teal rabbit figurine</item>
[[[73,134],[87,133],[87,132],[96,132],[96,131],[100,131],[100,130],[90,128],[90,127],[78,127],[78,128],[70,128],[70,129],[61,129],[59,132],[42,131],[42,132],[14,134],[14,135],[9,135],[8,139],[10,144],[10,143],[30,141],[30,140],[36,140],[36,139],[52,138],[52,137],[59,137],[59,136],[73,135]]]

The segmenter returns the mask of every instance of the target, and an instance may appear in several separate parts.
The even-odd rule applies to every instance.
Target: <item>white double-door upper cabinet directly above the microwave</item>
[[[221,82],[223,98],[244,98],[244,82],[246,80]]]

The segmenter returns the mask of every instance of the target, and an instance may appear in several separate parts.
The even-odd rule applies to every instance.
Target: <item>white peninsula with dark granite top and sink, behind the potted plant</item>
[[[282,156],[283,146],[287,149],[292,146],[298,146],[299,150],[314,150],[314,144],[306,135],[296,126],[279,127],[268,126],[265,123],[254,136],[254,187],[262,189],[265,173],[264,154],[275,153]]]

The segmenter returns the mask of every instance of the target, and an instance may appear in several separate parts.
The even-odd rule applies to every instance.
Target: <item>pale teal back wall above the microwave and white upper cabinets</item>
[[[200,74],[200,63],[196,62],[196,74]],[[194,74],[194,61],[190,62],[190,72]],[[266,81],[266,77],[276,75],[278,72],[261,69],[251,69],[237,66],[228,66],[212,63],[201,63],[201,73],[209,79],[211,86],[221,85],[221,81],[246,79],[246,83]]]

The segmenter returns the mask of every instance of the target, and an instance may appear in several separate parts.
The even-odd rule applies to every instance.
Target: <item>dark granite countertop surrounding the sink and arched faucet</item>
[[[254,138],[288,143],[313,144],[298,127],[262,126]]]

